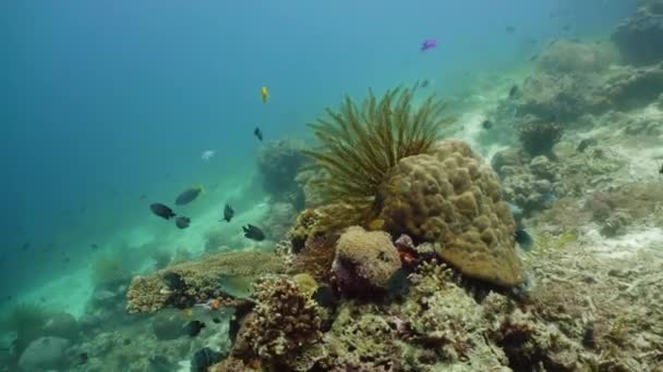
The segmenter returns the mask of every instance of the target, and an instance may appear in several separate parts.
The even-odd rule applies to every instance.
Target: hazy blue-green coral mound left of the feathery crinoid
[[[298,141],[279,139],[265,145],[257,156],[265,191],[275,201],[292,203],[297,209],[304,206],[303,190],[296,181],[299,169],[306,163],[302,149]]]

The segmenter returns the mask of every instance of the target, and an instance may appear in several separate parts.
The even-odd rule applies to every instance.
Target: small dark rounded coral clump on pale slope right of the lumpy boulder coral
[[[554,156],[553,147],[562,139],[564,127],[553,121],[528,115],[518,124],[518,139],[530,156]]]

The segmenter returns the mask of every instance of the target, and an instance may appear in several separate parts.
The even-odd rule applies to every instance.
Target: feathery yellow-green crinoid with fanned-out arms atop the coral
[[[322,147],[304,153],[327,173],[322,183],[327,202],[367,211],[387,172],[400,159],[426,152],[451,123],[442,115],[447,104],[435,96],[414,109],[414,92],[396,88],[378,99],[370,91],[361,107],[347,97],[339,111],[327,109],[329,119],[310,124]]]

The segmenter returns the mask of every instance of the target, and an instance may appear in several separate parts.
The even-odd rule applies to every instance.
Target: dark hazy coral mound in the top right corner
[[[626,62],[635,65],[663,61],[663,11],[661,1],[650,1],[619,24],[612,40]]]

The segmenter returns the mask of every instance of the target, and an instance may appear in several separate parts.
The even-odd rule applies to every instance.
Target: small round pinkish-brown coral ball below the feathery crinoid
[[[348,227],[336,243],[334,273],[343,293],[382,288],[400,269],[398,250],[385,232]]]

